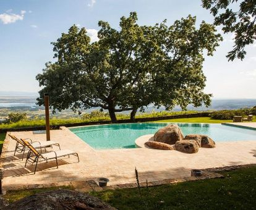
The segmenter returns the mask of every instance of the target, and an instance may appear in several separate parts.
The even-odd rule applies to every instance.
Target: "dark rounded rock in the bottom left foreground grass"
[[[28,196],[3,209],[115,209],[98,198],[72,190],[53,190]]]

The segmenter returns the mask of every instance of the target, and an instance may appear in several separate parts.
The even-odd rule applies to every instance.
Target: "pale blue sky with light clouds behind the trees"
[[[87,28],[96,39],[98,20],[118,28],[121,16],[136,11],[140,25],[154,25],[164,19],[197,16],[213,22],[200,0],[1,0],[0,1],[0,91],[40,90],[35,80],[45,62],[53,60],[53,46],[71,25]],[[220,30],[220,28],[218,28]],[[206,93],[215,98],[256,98],[256,43],[248,46],[243,61],[228,62],[233,35],[224,41],[213,57],[206,57],[203,71],[207,76]]]

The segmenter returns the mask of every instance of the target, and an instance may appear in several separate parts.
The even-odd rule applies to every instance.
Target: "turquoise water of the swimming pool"
[[[95,149],[135,148],[134,141],[142,135],[155,133],[168,123],[111,124],[70,128]],[[210,136],[216,142],[256,140],[256,130],[221,124],[177,124],[185,135],[198,133]]]

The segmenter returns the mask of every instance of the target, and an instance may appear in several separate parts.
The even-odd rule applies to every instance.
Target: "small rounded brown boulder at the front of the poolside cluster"
[[[197,141],[182,140],[182,141],[176,141],[175,149],[182,153],[197,153],[199,146],[198,146]]]

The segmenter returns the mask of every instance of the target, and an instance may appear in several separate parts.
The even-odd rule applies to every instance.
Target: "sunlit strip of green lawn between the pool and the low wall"
[[[197,123],[205,123],[205,124],[221,124],[223,122],[233,122],[233,120],[215,120],[211,119],[211,117],[192,117],[192,118],[181,118],[181,119],[170,119],[170,120],[158,120],[155,122],[197,122]],[[256,119],[253,120],[256,122]]]

